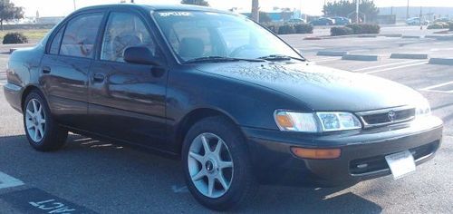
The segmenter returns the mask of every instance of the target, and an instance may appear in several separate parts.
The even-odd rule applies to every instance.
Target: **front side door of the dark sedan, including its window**
[[[99,59],[92,63],[90,72],[91,130],[165,149],[165,61],[161,60],[160,66],[124,62],[124,50],[137,45],[148,47],[156,57],[161,55],[139,13],[111,12]]]

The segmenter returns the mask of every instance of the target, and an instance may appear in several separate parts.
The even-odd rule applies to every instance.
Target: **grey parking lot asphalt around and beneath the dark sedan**
[[[308,41],[294,35],[282,37],[314,63],[380,76],[423,93],[431,103],[432,113],[445,122],[444,141],[433,160],[400,180],[387,176],[333,189],[263,186],[255,199],[239,211],[451,213],[453,66],[389,56],[399,52],[448,57],[453,41],[386,37]],[[319,50],[376,53],[381,59],[346,61],[317,56]],[[7,54],[0,54],[0,85],[5,83],[7,58]],[[209,212],[188,193],[178,160],[73,134],[62,151],[34,151],[24,136],[21,115],[5,102],[2,90],[0,213],[48,213],[56,209],[68,213]],[[53,206],[54,203],[62,206]]]

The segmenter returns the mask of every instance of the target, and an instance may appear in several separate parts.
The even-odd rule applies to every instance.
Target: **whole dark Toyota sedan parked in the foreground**
[[[80,9],[14,51],[6,79],[35,150],[62,149],[72,131],[159,152],[181,160],[188,190],[210,209],[248,202],[261,183],[400,178],[442,138],[419,92],[308,62],[246,16],[209,7]]]

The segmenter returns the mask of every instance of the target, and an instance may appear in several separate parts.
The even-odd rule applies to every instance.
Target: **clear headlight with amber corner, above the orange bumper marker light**
[[[349,112],[275,111],[275,122],[281,131],[322,132],[361,129],[361,122]]]

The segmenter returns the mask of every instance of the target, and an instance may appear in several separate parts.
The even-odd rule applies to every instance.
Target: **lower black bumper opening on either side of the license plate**
[[[433,141],[429,144],[422,145],[409,151],[412,153],[414,160],[420,160],[429,156],[436,151],[439,146],[439,141]],[[386,154],[389,155],[389,154]],[[390,170],[385,155],[378,155],[370,158],[352,160],[350,162],[349,170],[352,175],[363,175],[381,170]]]

